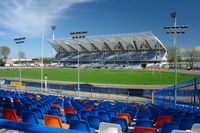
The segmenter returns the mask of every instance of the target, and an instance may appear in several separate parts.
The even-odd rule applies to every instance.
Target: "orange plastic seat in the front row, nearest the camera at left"
[[[53,115],[44,115],[44,125],[50,127],[69,129],[69,124],[62,123],[59,116]]]

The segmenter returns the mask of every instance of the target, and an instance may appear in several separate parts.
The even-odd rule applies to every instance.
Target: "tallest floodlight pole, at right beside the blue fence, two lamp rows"
[[[176,36],[185,34],[183,31],[184,29],[188,28],[188,25],[176,25],[176,12],[170,13],[171,17],[174,19],[174,26],[164,26],[164,29],[167,30],[167,34],[174,35],[174,104],[176,104],[176,95],[177,95],[177,90],[176,90],[176,85],[177,85],[177,65],[176,65]]]

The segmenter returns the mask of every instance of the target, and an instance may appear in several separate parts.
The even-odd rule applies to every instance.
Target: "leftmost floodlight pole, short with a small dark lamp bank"
[[[15,38],[14,41],[16,44],[18,44],[18,56],[19,56],[19,88],[20,92],[22,92],[22,72],[21,72],[21,56],[20,56],[20,51],[21,51],[21,44],[24,43],[24,40],[26,37],[18,37]]]

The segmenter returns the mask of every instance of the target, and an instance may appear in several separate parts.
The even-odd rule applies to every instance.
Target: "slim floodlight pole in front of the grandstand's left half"
[[[83,39],[85,38],[85,34],[87,34],[88,31],[79,31],[79,32],[71,32],[70,35],[72,36],[72,39],[76,39],[78,41],[78,95],[77,97],[79,98],[79,94],[80,94],[80,63],[79,63],[79,49],[80,49],[80,41],[79,39]]]

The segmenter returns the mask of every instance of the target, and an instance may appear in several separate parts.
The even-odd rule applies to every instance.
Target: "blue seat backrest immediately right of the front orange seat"
[[[70,129],[90,132],[89,124],[85,120],[71,120],[69,124]]]

